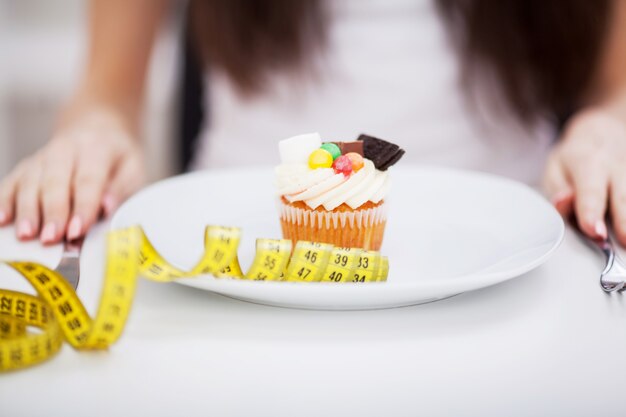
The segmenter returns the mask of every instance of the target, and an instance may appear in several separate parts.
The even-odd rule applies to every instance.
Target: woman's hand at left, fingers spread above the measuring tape
[[[144,182],[141,150],[120,113],[81,110],[0,182],[0,225],[21,240],[84,235]]]

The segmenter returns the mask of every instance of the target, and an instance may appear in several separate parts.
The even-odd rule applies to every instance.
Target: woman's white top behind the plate
[[[459,60],[434,2],[334,0],[319,75],[276,74],[269,91],[240,97],[219,71],[207,75],[210,129],[196,168],[276,165],[279,140],[367,133],[395,142],[401,163],[442,164],[536,183],[551,129],[512,117],[478,117],[459,87]],[[480,97],[479,97],[480,98]]]

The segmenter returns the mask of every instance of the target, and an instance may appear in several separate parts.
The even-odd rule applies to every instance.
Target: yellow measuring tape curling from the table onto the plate
[[[121,335],[138,276],[159,282],[213,274],[216,277],[290,282],[386,281],[389,262],[378,252],[324,243],[258,239],[252,266],[243,273],[237,258],[241,231],[209,226],[205,252],[191,271],[169,264],[140,227],[107,235],[107,262],[100,305],[92,319],[71,285],[33,262],[4,262],[35,288],[37,296],[0,289],[0,372],[40,363],[67,341],[75,349],[106,349]],[[29,331],[37,327],[38,332]]]

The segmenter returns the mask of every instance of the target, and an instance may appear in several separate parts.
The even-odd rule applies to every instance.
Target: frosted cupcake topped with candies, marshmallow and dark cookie
[[[311,133],[278,145],[276,167],[280,224],[285,239],[379,250],[389,190],[387,169],[404,150],[361,135],[351,142],[324,142]]]

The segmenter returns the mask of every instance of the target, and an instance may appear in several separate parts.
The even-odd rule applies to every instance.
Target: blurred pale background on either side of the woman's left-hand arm
[[[0,177],[49,139],[83,68],[87,5],[0,0]],[[150,64],[143,137],[151,179],[177,170],[181,14],[164,25]]]

